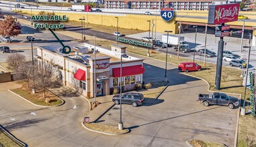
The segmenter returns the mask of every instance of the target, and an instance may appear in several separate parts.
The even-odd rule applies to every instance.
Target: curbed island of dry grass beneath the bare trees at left
[[[41,91],[36,90],[36,94],[32,94],[32,89],[28,89],[26,84],[23,84],[22,88],[16,88],[11,91],[15,92],[15,94],[18,94],[19,96],[22,96],[23,98],[26,98],[30,102],[41,106],[56,106],[62,103],[62,101],[57,96],[50,94],[50,92],[45,92],[46,98],[50,98],[51,100],[50,103],[47,103],[45,101],[46,98],[42,97]]]

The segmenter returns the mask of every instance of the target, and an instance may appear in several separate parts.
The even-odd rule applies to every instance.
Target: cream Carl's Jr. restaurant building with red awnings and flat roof
[[[92,98],[95,78],[97,96],[110,95],[114,88],[120,90],[120,57],[126,53],[126,47],[118,44],[111,46],[111,49],[96,46],[95,59],[94,45],[88,43],[83,47],[73,47],[69,54],[60,53],[56,46],[37,47],[37,57],[38,61],[48,61],[54,65],[56,76],[63,81],[63,85],[75,88],[87,98]],[[136,84],[142,83],[142,74],[145,71],[143,60],[130,55],[122,58],[124,92],[134,90]]]

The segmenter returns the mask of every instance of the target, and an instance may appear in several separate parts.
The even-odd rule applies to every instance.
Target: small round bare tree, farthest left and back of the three
[[[9,67],[14,71],[17,71],[18,67],[25,63],[25,61],[25,55],[22,55],[20,53],[12,53],[6,58],[6,62],[8,63]]]

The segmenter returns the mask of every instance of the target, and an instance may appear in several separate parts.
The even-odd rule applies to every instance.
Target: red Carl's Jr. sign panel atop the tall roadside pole
[[[224,5],[209,5],[208,24],[220,24],[237,21],[239,16],[239,3]]]

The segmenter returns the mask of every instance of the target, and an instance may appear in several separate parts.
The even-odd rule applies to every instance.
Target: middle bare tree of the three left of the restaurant
[[[27,83],[28,88],[30,88],[30,80],[33,80],[33,66],[31,61],[22,63],[22,65],[17,68],[17,75],[15,78],[17,80],[24,80]]]

